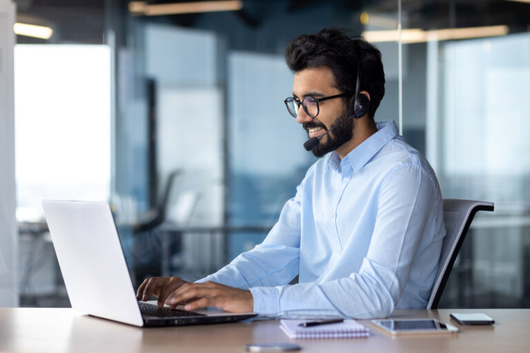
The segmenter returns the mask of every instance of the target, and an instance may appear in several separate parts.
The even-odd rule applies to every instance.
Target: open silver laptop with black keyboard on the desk
[[[230,323],[257,314],[139,302],[108,203],[42,201],[72,308],[140,327]],[[147,307],[147,308],[146,308]]]

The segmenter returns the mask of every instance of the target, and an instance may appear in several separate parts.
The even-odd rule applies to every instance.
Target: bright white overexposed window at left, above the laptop
[[[14,53],[17,219],[43,219],[41,199],[110,194],[110,50],[23,45]]]

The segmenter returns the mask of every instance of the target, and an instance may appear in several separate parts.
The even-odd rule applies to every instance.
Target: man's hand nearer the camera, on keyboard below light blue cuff
[[[215,282],[184,283],[171,293],[166,303],[174,308],[185,304],[185,310],[214,306],[227,312],[252,312],[254,298],[250,290],[240,290]]]

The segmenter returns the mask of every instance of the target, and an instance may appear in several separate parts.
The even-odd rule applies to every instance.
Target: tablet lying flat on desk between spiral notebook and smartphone
[[[372,320],[372,323],[389,334],[453,334],[458,327],[436,319]]]

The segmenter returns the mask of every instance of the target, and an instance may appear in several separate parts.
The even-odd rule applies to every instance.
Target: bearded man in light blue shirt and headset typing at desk
[[[262,244],[199,283],[146,279],[138,299],[360,319],[426,307],[445,235],[443,201],[429,163],[395,123],[374,122],[384,95],[379,50],[324,29],[293,39],[286,61],[295,77],[285,103],[308,137],[320,137],[313,153],[324,158]],[[288,285],[296,275],[299,283]]]

